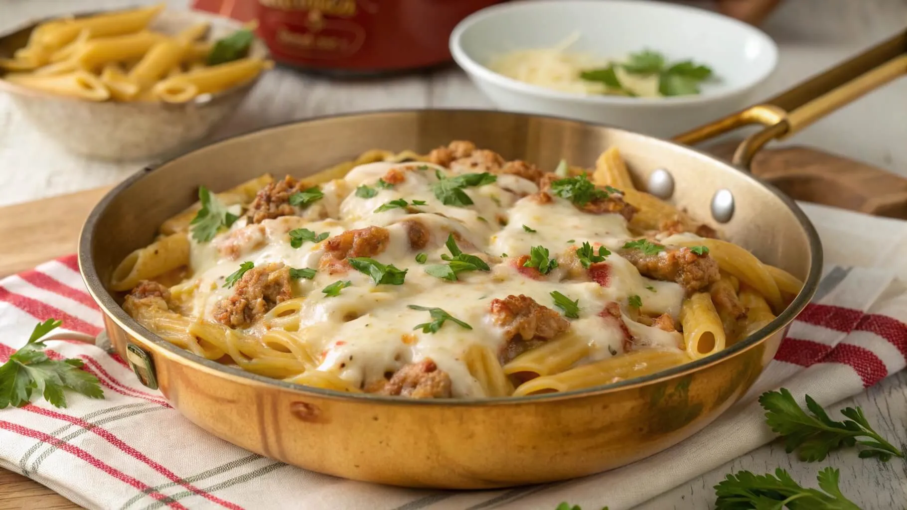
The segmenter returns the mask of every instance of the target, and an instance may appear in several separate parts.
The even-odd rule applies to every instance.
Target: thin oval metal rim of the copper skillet
[[[265,376],[261,376],[246,370],[239,369],[239,367],[234,367],[230,365],[224,365],[217,361],[208,360],[207,358],[202,358],[201,356],[192,353],[191,351],[181,349],[180,347],[174,345],[171,342],[167,342],[162,339],[159,335],[151,330],[142,326],[139,322],[132,319],[132,317],[123,311],[120,304],[116,303],[116,300],[113,298],[113,295],[110,291],[106,289],[104,284],[102,284],[101,278],[98,275],[97,269],[93,264],[92,256],[92,244],[96,236],[97,223],[99,218],[105,212],[106,208],[110,203],[126,188],[130,188],[133,184],[136,184],[146,175],[151,174],[151,172],[157,171],[164,165],[167,165],[173,161],[176,161],[183,156],[189,155],[193,152],[202,149],[210,149],[216,147],[221,143],[230,142],[239,138],[247,137],[254,134],[264,133],[268,130],[280,130],[286,128],[290,125],[303,124],[310,122],[317,122],[322,120],[331,120],[339,118],[348,118],[348,117],[368,117],[373,115],[386,115],[386,114],[420,114],[425,112],[433,111],[457,111],[463,113],[493,113],[495,115],[504,115],[504,116],[514,116],[522,117],[527,119],[541,119],[541,120],[559,120],[563,122],[570,122],[578,125],[591,126],[596,128],[608,128],[610,130],[618,130],[626,133],[634,134],[637,136],[645,137],[654,143],[667,143],[672,146],[675,146],[681,150],[688,150],[696,153],[701,157],[705,157],[710,161],[716,162],[725,168],[733,169],[735,171],[742,172],[745,175],[745,178],[748,178],[753,185],[759,186],[767,189],[775,197],[778,197],[783,204],[794,213],[795,218],[799,222],[800,226],[804,229],[805,235],[809,242],[810,246],[810,267],[809,273],[806,275],[803,289],[798,293],[794,300],[787,306],[785,309],[778,313],[775,319],[772,322],[766,324],[755,333],[751,334],[742,342],[736,342],[734,345],[724,349],[722,351],[717,351],[715,354],[709,355],[705,358],[690,361],[688,363],[678,365],[668,370],[660,370],[653,374],[646,376],[641,376],[628,380],[621,380],[619,382],[603,384],[599,386],[591,386],[589,388],[580,388],[579,390],[563,391],[563,392],[554,392],[554,393],[541,393],[537,395],[527,395],[527,396],[510,396],[510,397],[486,397],[486,398],[471,398],[471,399],[405,399],[400,397],[392,396],[381,396],[373,395],[368,393],[348,393],[344,391],[337,390],[326,390],[321,388],[315,388],[311,386],[304,386],[297,383],[287,382],[284,380],[272,379]],[[513,111],[499,111],[499,110],[487,110],[487,109],[478,109],[478,108],[403,108],[403,109],[388,109],[388,110],[370,110],[370,111],[353,111],[346,113],[334,113],[327,115],[319,115],[317,117],[311,117],[304,120],[288,120],[286,122],[280,122],[278,124],[268,125],[262,128],[244,131],[242,133],[236,134],[229,138],[223,140],[217,140],[213,143],[203,145],[196,149],[192,149],[187,152],[183,152],[180,155],[173,156],[169,159],[166,159],[161,162],[156,162],[150,164],[144,168],[141,168],[139,171],[132,174],[132,176],[125,178],[122,182],[110,191],[108,191],[104,197],[93,207],[92,212],[85,219],[85,223],[82,227],[82,232],[79,235],[79,246],[78,246],[78,261],[79,261],[79,272],[82,275],[83,282],[88,289],[88,292],[91,294],[95,303],[101,308],[102,313],[104,313],[110,320],[115,322],[117,326],[122,328],[125,332],[129,333],[133,337],[140,338],[143,342],[153,344],[156,348],[163,349],[171,355],[176,355],[182,358],[184,361],[189,361],[190,363],[196,365],[196,368],[201,370],[206,370],[209,372],[217,372],[221,376],[229,376],[232,379],[241,379],[245,380],[245,383],[253,383],[254,385],[264,385],[264,386],[274,386],[282,390],[292,390],[301,394],[314,394],[317,397],[327,398],[327,399],[336,399],[336,400],[346,400],[350,402],[375,402],[385,405],[402,405],[402,406],[456,406],[456,407],[467,407],[467,406],[488,406],[488,405],[513,405],[521,403],[536,403],[541,401],[554,401],[561,399],[580,399],[585,397],[591,397],[595,395],[600,395],[604,393],[618,392],[620,390],[630,390],[633,388],[639,388],[647,386],[653,383],[656,383],[660,380],[668,380],[676,376],[685,375],[688,373],[697,372],[699,370],[705,369],[707,366],[717,364],[721,361],[725,361],[728,358],[734,357],[737,354],[747,351],[751,348],[756,347],[761,342],[764,342],[769,336],[775,332],[783,330],[790,322],[793,322],[795,317],[801,313],[806,304],[808,304],[818,287],[819,279],[822,274],[823,267],[823,247],[822,242],[819,239],[819,235],[813,226],[813,223],[806,217],[803,210],[796,205],[795,201],[790,197],[787,197],[782,193],[778,188],[772,186],[766,181],[757,178],[756,176],[744,172],[739,168],[734,167],[730,163],[717,159],[715,156],[707,154],[706,152],[683,145],[671,140],[661,140],[656,137],[649,135],[644,135],[636,131],[623,130],[609,124],[602,124],[596,122],[586,122],[581,120],[572,120],[563,117],[557,117],[553,115],[539,115],[532,113],[522,113],[522,112],[513,112]]]

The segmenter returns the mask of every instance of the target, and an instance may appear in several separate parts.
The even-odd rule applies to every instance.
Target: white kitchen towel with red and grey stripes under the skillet
[[[71,337],[102,331],[74,256],[0,281],[0,361],[34,323],[61,319]],[[68,394],[0,410],[0,467],[30,476],[88,508],[313,508],[553,510],[561,501],[611,510],[639,505],[772,440],[756,396],[784,386],[830,405],[902,370],[907,293],[884,271],[831,267],[756,387],[713,425],[654,457],[608,473],[495,491],[429,491],[352,482],[289,467],[210,436],[142,387],[116,354],[50,342],[80,358],[105,399]],[[465,446],[468,447],[468,446]],[[639,480],[646,483],[639,483]]]

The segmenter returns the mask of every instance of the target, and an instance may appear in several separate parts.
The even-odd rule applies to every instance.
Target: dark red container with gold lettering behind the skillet
[[[307,70],[373,74],[450,61],[453,27],[502,0],[252,1],[258,35],[274,60]]]

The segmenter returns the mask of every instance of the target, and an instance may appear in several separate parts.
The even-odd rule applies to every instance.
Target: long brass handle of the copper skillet
[[[762,124],[765,128],[737,146],[732,159],[735,165],[748,170],[756,152],[769,141],[783,140],[903,75],[907,75],[907,31],[768,101],[689,130],[674,140],[694,145],[743,126]]]

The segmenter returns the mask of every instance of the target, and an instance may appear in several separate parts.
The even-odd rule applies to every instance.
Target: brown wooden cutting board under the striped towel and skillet
[[[729,158],[736,144],[710,148]],[[764,150],[753,173],[798,200],[907,219],[907,178],[805,147]],[[110,189],[95,188],[34,203],[0,207],[0,276],[75,252],[85,217]],[[0,468],[0,510],[74,509],[45,486]]]

